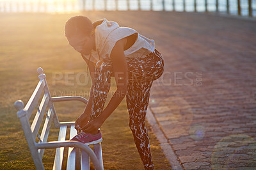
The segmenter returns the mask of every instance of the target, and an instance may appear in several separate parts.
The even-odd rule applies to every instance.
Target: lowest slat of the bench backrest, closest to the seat
[[[52,124],[53,112],[52,109],[49,109],[48,116],[45,118],[44,127],[41,133],[40,138],[42,139],[42,143],[47,142],[47,138],[50,132],[51,124]],[[44,150],[38,150],[40,157],[42,158],[44,155]]]

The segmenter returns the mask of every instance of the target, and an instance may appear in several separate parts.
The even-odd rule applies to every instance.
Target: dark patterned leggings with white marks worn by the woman
[[[164,60],[160,52],[155,49],[146,58],[127,58],[127,66],[126,102],[129,112],[129,127],[145,169],[154,169],[145,127],[145,116],[152,82],[163,74]],[[111,61],[99,60],[95,67],[95,86],[90,121],[97,118],[102,112],[110,88],[111,74],[113,74]]]

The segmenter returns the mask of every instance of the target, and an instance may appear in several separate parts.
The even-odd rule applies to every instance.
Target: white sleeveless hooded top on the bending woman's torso
[[[96,50],[92,50],[90,61],[97,63],[99,59],[110,59],[110,54],[118,40],[130,35],[136,35],[136,42],[124,50],[127,58],[144,58],[150,52],[155,50],[154,40],[150,40],[140,35],[137,31],[129,27],[120,27],[116,22],[106,19],[95,28],[95,45]],[[85,56],[89,59],[90,55]]]

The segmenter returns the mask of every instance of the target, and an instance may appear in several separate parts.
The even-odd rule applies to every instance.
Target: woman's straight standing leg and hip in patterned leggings
[[[152,82],[163,74],[163,57],[155,50],[148,54],[147,58],[127,59],[127,66],[129,81],[126,102],[129,111],[129,127],[144,168],[154,169],[145,117]]]

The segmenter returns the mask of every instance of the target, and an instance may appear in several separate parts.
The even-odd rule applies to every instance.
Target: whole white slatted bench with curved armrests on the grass
[[[39,73],[38,77],[40,81],[38,82],[36,89],[25,108],[21,100],[17,100],[15,102],[15,108],[18,110],[17,116],[20,119],[36,169],[44,169],[42,157],[44,155],[44,150],[48,148],[56,148],[53,169],[61,169],[65,147],[68,147],[67,169],[80,169],[80,164],[81,169],[90,169],[90,158],[95,169],[104,169],[101,143],[93,144],[93,151],[89,146],[86,146],[83,143],[79,143],[77,141],[65,141],[68,127],[70,127],[70,139],[77,134],[77,130],[74,128],[75,122],[60,122],[53,104],[54,102],[70,100],[78,100],[87,104],[88,101],[83,97],[51,97],[45,79],[44,70],[42,68],[38,68],[37,72]],[[42,98],[40,105],[38,105],[37,103],[41,94],[43,94],[44,97]],[[38,105],[38,107],[35,118],[33,123],[30,125],[29,117],[34,111],[36,105]],[[47,108],[49,108],[48,111],[46,111]],[[44,116],[44,114],[46,115]],[[42,132],[39,135],[42,121],[44,121],[44,125],[41,127]],[[60,128],[59,137],[58,141],[47,142],[52,121],[55,128]],[[38,137],[38,143],[36,143],[36,137]],[[81,158],[79,157],[79,150],[81,150]]]

